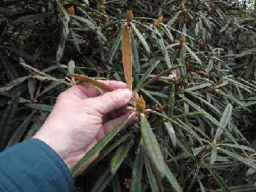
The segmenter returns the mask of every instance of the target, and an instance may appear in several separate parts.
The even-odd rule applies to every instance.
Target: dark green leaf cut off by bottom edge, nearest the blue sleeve
[[[91,192],[101,192],[103,191],[107,184],[109,183],[109,181],[112,180],[112,174],[110,172],[109,167],[107,167],[105,169],[105,171],[103,171],[103,173],[101,174],[101,176],[98,177],[98,180],[96,181],[96,183],[94,184]]]

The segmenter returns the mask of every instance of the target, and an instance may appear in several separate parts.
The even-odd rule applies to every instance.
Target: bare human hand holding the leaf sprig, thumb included
[[[126,84],[114,80],[103,83],[117,90],[100,95],[93,87],[75,85],[60,94],[48,119],[33,137],[54,149],[70,170],[132,112],[121,109],[132,97]],[[134,121],[135,118],[131,118],[124,127]],[[77,175],[85,171],[89,163]]]

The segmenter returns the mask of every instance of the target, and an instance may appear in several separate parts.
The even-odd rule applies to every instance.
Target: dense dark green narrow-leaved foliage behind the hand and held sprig
[[[183,65],[139,91],[148,109],[171,119],[147,115],[166,174],[158,176],[138,123],[106,145],[76,179],[77,190],[255,191],[254,7],[200,0],[0,1],[0,150],[39,130],[68,87],[66,74],[125,80],[121,32],[132,9],[134,87]],[[109,164],[117,155],[121,168],[113,174]]]

